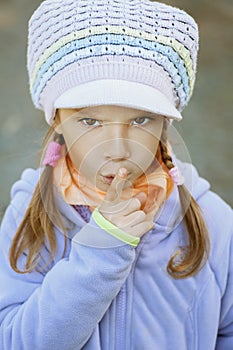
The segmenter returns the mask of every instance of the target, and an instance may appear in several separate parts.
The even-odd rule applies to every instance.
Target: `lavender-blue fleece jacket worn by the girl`
[[[24,171],[12,187],[0,233],[1,350],[233,349],[232,210],[194,167],[179,166],[211,238],[207,264],[186,279],[166,272],[170,256],[187,240],[177,188],[136,249],[92,217],[86,224],[56,193],[69,227],[65,257],[56,229],[58,252],[47,271],[14,272],[9,247],[40,173]],[[47,258],[45,248],[41,265]]]

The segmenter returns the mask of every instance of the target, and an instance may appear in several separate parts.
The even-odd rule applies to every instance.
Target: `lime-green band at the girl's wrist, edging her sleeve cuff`
[[[130,244],[133,247],[136,247],[140,242],[139,237],[129,235],[128,233],[121,230],[117,226],[113,225],[110,221],[105,219],[105,217],[103,217],[103,215],[99,212],[98,208],[95,208],[95,210],[92,212],[92,217],[102,229],[110,233],[112,236],[120,239],[121,241]]]

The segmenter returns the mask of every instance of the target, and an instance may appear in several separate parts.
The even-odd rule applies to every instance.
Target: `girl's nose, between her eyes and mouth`
[[[124,124],[112,124],[106,129],[106,143],[104,157],[121,160],[130,157],[127,126]]]

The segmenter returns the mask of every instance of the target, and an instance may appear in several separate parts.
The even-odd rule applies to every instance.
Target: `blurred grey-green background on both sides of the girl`
[[[233,205],[233,1],[164,0],[189,12],[200,29],[194,94],[174,123],[201,176]],[[0,0],[0,212],[26,167],[38,165],[47,129],[35,110],[26,71],[27,22],[38,0]]]

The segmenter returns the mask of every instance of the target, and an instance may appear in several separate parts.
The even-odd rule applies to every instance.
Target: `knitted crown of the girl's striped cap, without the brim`
[[[32,100],[48,120],[67,89],[122,79],[159,89],[182,111],[197,51],[197,24],[183,10],[149,0],[47,0],[29,21]]]

